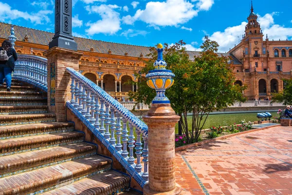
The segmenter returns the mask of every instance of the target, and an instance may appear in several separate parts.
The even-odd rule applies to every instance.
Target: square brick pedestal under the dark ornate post
[[[57,122],[66,121],[65,104],[71,99],[71,78],[66,68],[78,71],[78,60],[82,54],[60,47],[53,47],[43,53],[48,59],[48,111],[55,112]]]

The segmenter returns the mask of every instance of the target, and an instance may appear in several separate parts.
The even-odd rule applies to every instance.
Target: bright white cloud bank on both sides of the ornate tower
[[[258,16],[257,21],[260,23],[263,34],[268,34],[270,40],[281,39],[286,40],[292,38],[292,28],[274,24],[274,16],[278,13],[266,14],[263,17]],[[219,43],[220,52],[229,51],[235,44],[238,44],[238,37],[242,39],[247,22],[242,22],[238,26],[228,27],[224,32],[215,32],[210,36],[210,39],[216,40]]]

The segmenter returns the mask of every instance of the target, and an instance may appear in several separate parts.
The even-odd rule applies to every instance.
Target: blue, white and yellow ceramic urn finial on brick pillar
[[[165,96],[165,90],[173,85],[175,75],[171,70],[166,70],[167,63],[163,59],[163,45],[161,43],[157,45],[156,50],[158,57],[153,64],[155,69],[150,70],[146,75],[147,85],[156,90],[156,97],[152,100],[153,104],[170,103]]]

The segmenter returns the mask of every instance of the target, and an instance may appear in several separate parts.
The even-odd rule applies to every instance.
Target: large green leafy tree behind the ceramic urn
[[[198,141],[202,127],[213,110],[219,110],[234,103],[244,101],[242,91],[245,86],[234,85],[235,76],[229,63],[230,58],[218,55],[218,43],[205,37],[201,46],[202,52],[189,59],[181,40],[175,45],[164,44],[164,60],[167,69],[175,74],[175,82],[166,90],[174,111],[181,117],[183,134],[188,143]],[[146,67],[147,73],[153,69],[153,62],[157,59],[155,48],[150,49]],[[139,77],[139,76],[138,76]],[[131,92],[129,96],[139,102],[150,103],[155,97],[155,91],[141,80],[138,92]],[[149,87],[148,87],[149,88]],[[149,98],[149,99],[148,99]],[[192,113],[192,123],[187,123],[187,114]]]

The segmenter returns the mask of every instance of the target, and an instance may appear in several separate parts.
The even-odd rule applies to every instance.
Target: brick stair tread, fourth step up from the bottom
[[[42,142],[50,142],[56,139],[59,140],[66,140],[70,137],[83,137],[83,133],[79,132],[66,132],[66,133],[56,133],[56,134],[44,134],[38,136],[30,136],[30,137],[19,137],[13,139],[4,139],[0,140],[0,149],[5,148],[12,148],[12,147],[19,147],[25,144],[32,144],[32,143],[42,143]]]

